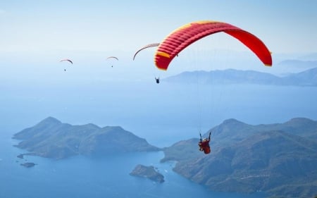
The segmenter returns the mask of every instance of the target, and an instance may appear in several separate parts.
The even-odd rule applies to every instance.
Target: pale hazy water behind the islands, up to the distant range
[[[168,147],[228,118],[254,125],[295,117],[317,120],[317,87],[157,85],[153,80],[0,88],[0,127],[11,134],[53,116],[73,125],[120,125]]]

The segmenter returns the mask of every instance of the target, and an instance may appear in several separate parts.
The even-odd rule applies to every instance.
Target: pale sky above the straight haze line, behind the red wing
[[[241,27],[275,53],[311,52],[317,51],[316,8],[314,0],[1,0],[0,52],[135,51],[196,20]]]

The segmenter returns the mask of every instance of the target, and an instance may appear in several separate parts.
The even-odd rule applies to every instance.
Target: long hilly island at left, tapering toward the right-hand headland
[[[55,118],[46,118],[32,128],[14,135],[23,140],[16,147],[31,154],[52,159],[69,156],[102,156],[135,151],[158,151],[131,132],[120,127],[99,128],[97,125],[70,125]]]

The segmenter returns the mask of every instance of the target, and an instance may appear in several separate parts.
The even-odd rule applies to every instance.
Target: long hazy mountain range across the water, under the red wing
[[[270,73],[254,70],[211,70],[184,72],[163,79],[170,83],[201,83],[211,85],[227,84],[256,84],[256,85],[280,85],[280,86],[317,86],[317,68],[304,70],[279,77]]]

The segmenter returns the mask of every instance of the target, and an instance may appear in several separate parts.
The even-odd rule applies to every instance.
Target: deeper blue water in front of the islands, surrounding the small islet
[[[162,152],[89,159],[75,156],[55,161],[36,156],[16,156],[15,140],[0,139],[0,197],[264,197],[263,194],[211,192],[171,171],[173,163],[159,163]],[[32,168],[20,166],[26,161]],[[166,182],[156,183],[129,175],[137,164],[152,165]]]

